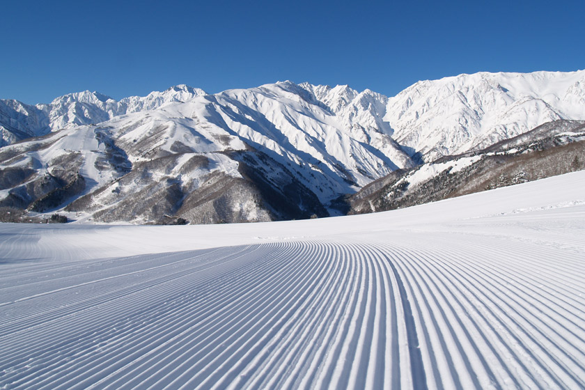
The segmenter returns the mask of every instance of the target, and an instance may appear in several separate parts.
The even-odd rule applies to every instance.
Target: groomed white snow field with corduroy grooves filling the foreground
[[[392,212],[0,224],[1,389],[582,389],[585,171]]]

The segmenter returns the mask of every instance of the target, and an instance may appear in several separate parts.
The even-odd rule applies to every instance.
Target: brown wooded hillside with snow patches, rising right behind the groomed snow
[[[375,180],[347,198],[349,214],[405,208],[585,169],[585,121],[556,120],[472,153]]]

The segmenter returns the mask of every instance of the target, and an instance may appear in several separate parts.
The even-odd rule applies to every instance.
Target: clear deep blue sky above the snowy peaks
[[[585,68],[585,1],[3,1],[0,98]]]

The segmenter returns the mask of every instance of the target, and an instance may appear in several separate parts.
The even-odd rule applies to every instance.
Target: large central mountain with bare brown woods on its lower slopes
[[[0,149],[0,205],[135,223],[322,217],[339,194],[414,166],[378,127],[384,98],[353,94],[354,116],[286,81],[65,127]]]

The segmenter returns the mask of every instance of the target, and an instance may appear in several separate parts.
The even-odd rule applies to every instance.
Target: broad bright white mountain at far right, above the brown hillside
[[[453,155],[557,119],[585,119],[585,70],[487,73],[419,81],[389,99],[384,120],[412,153]]]

